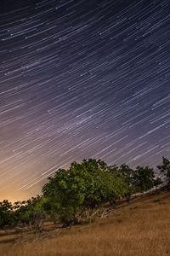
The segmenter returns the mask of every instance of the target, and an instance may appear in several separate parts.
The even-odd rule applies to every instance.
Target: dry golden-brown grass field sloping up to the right
[[[93,224],[70,229],[47,227],[41,235],[2,234],[0,255],[170,256],[170,193],[144,195],[123,203]]]

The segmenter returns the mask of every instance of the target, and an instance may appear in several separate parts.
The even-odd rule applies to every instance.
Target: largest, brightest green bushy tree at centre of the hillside
[[[93,159],[73,162],[67,171],[59,169],[42,188],[46,208],[57,212],[65,224],[94,218],[106,203],[114,204],[126,192],[122,177],[110,172],[105,162]]]

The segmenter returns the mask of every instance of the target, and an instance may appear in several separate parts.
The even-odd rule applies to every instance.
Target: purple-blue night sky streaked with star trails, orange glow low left
[[[85,158],[170,155],[170,2],[0,1],[0,200]]]

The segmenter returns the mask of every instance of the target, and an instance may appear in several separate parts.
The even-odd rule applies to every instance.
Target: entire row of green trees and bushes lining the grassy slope
[[[170,161],[163,158],[158,170],[164,173],[165,185],[170,189]],[[0,228],[5,226],[43,229],[47,218],[59,219],[65,225],[78,224],[102,216],[120,199],[130,200],[136,193],[143,193],[160,185],[149,166],[107,166],[102,160],[73,162],[68,170],[59,169],[42,187],[42,195],[14,204],[0,202]]]

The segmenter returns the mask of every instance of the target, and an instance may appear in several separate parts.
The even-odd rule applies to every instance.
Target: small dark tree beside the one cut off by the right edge
[[[144,192],[152,189],[158,183],[161,183],[159,178],[155,177],[155,173],[149,166],[137,166],[133,174],[133,186],[136,192]]]

